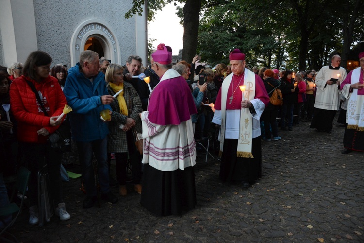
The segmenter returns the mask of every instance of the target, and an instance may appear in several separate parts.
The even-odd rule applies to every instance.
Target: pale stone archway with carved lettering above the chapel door
[[[120,45],[114,32],[98,19],[90,19],[80,24],[71,38],[71,65],[78,63],[80,53],[85,49],[86,42],[94,38],[102,48],[103,56],[112,63],[121,63]],[[101,57],[101,56],[100,56]]]

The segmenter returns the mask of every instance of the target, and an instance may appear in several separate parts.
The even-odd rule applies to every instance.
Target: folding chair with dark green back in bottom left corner
[[[17,194],[17,192],[19,191],[20,193],[23,194],[23,196],[21,197],[21,202],[20,202],[20,206],[18,206],[16,203],[14,202],[11,202],[10,204],[0,208],[0,216],[6,216],[6,215],[9,215],[9,214],[13,214],[13,213],[16,213],[17,212],[17,215],[13,218],[13,220],[7,225],[5,226],[5,228],[1,231],[0,233],[0,240],[1,241],[4,241],[4,242],[12,242],[4,237],[2,237],[2,235],[4,233],[10,235],[15,242],[17,242],[17,238],[7,232],[6,230],[12,226],[14,224],[14,222],[17,220],[17,217],[19,216],[20,212],[21,212],[21,209],[23,208],[23,204],[24,204],[24,200],[25,200],[25,193],[26,193],[26,190],[27,190],[27,186],[28,186],[28,181],[29,181],[29,177],[30,177],[30,171],[28,169],[26,169],[25,167],[20,167],[18,172],[17,172],[17,180],[14,184],[14,189],[13,189],[13,193],[12,193],[12,196],[11,196],[11,201],[15,198],[15,195]],[[4,225],[5,222],[3,222]]]

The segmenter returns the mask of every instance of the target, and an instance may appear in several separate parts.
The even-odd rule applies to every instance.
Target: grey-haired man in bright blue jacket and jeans
[[[100,119],[100,112],[109,109],[114,97],[109,95],[105,84],[105,75],[99,72],[99,56],[96,52],[86,50],[80,54],[80,62],[68,71],[64,93],[71,106],[69,120],[72,138],[76,141],[81,166],[83,168],[86,198],[83,208],[92,207],[97,201],[97,189],[92,165],[93,155],[98,161],[98,178],[101,199],[116,203],[117,197],[109,188],[109,168],[107,164],[106,121]]]

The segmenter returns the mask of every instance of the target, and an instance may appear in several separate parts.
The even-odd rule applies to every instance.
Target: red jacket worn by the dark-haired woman
[[[31,81],[43,95],[46,109],[49,106],[48,117],[43,113],[42,107],[37,104],[36,96],[26,79]],[[50,117],[61,115],[67,101],[56,78],[49,75],[42,82],[37,83],[22,75],[14,79],[10,85],[10,104],[10,109],[18,122],[18,140],[45,143],[48,136],[38,136],[37,131],[44,127],[53,133],[58,126],[50,126]]]

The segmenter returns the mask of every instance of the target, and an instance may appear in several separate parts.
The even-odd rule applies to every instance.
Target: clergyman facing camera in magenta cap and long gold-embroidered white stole
[[[221,125],[220,178],[248,188],[262,176],[260,116],[269,96],[262,79],[245,68],[244,53],[235,49],[229,59],[232,73],[219,90],[213,118],[215,124]],[[239,89],[242,85],[244,92]]]

